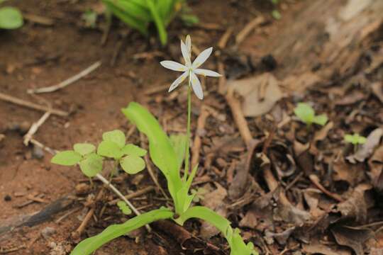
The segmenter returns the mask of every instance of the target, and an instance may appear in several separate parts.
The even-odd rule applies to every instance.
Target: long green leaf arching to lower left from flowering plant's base
[[[77,246],[71,252],[71,255],[89,255],[96,249],[99,249],[103,244],[110,242],[117,237],[123,236],[134,229],[138,229],[156,220],[165,220],[173,217],[173,212],[169,209],[158,209],[150,212],[143,213],[133,217],[131,220],[124,222],[123,224],[111,225],[107,227],[103,232],[97,234],[94,237],[85,239],[77,244]]]

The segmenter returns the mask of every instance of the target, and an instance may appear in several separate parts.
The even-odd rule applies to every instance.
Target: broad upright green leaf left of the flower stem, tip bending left
[[[152,162],[162,171],[167,179],[168,190],[173,199],[177,191],[182,187],[179,176],[179,161],[174,152],[169,137],[162,130],[155,117],[139,103],[129,103],[127,108],[122,109],[126,118],[137,125],[138,130],[143,132],[149,140],[149,152]],[[182,205],[175,205],[177,210],[182,210]]]

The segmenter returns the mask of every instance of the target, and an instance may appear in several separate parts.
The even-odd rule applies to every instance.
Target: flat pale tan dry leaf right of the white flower
[[[232,86],[240,96],[243,96],[242,110],[245,117],[256,117],[269,112],[282,98],[279,81],[269,73],[230,81],[228,86]]]

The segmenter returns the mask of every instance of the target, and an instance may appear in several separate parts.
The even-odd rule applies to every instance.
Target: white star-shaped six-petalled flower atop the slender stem
[[[206,49],[203,52],[201,52],[201,54],[198,57],[196,57],[194,62],[191,63],[191,39],[190,36],[187,35],[185,43],[181,40],[181,52],[182,56],[184,57],[185,64],[179,64],[178,62],[170,60],[160,62],[162,67],[177,72],[184,72],[172,83],[172,85],[170,85],[169,92],[177,88],[177,86],[181,84],[182,81],[189,77],[189,86],[191,85],[194,94],[196,94],[196,96],[202,100],[204,98],[204,92],[202,91],[201,82],[199,82],[199,79],[196,76],[196,74],[201,74],[208,77],[221,77],[221,74],[218,74],[218,72],[198,68],[201,66],[201,64],[204,64],[204,62],[210,57],[211,52],[213,52],[213,47],[209,47],[209,49]]]

